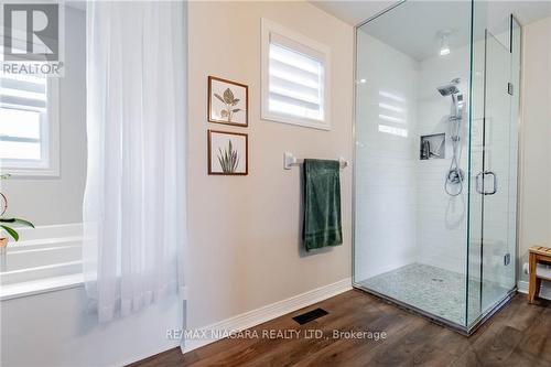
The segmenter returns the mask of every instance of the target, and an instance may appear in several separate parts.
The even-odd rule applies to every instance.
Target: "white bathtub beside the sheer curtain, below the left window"
[[[0,300],[83,283],[79,223],[20,228],[0,255]]]

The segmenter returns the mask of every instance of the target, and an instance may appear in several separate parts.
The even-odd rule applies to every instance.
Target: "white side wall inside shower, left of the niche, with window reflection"
[[[357,79],[365,83],[356,99],[354,270],[363,281],[415,261],[419,63],[361,31],[357,44]],[[379,131],[380,126],[407,136]]]

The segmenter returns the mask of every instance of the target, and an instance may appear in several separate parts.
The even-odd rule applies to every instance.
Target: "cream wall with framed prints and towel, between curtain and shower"
[[[331,131],[260,119],[260,20],[331,47]],[[305,255],[300,169],[283,152],[352,161],[353,28],[305,1],[190,2],[191,327],[350,277],[352,169],[341,173],[344,244]],[[207,77],[249,86],[249,127],[207,122]],[[249,134],[247,176],[207,175],[207,129]]]

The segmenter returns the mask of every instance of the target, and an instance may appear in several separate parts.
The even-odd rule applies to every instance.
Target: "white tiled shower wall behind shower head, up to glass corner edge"
[[[442,96],[436,88],[454,78],[461,78],[457,86],[464,96],[465,111],[461,122],[461,161],[465,172],[463,191],[450,196],[444,191],[444,182],[452,162],[452,123],[449,121],[452,98]],[[453,48],[446,56],[435,55],[420,62],[420,85],[417,91],[419,104],[418,130],[415,134],[419,150],[420,137],[445,133],[445,159],[419,160],[415,151],[418,262],[465,273],[466,234],[468,205],[468,84],[469,47]],[[455,186],[450,190],[454,192]]]

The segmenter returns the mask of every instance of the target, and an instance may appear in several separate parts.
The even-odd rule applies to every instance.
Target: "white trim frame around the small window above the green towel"
[[[315,50],[324,55],[324,85],[323,85],[323,120],[300,118],[269,110],[269,68],[270,68],[270,34],[290,39],[293,42]],[[298,125],[307,128],[331,130],[331,48],[303,34],[291,31],[283,25],[268,19],[261,19],[261,118],[274,122]]]

